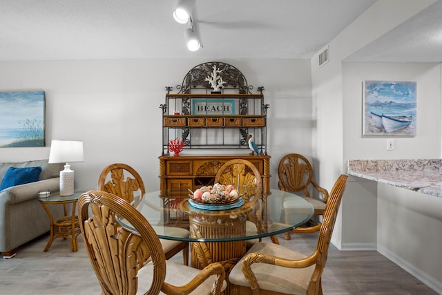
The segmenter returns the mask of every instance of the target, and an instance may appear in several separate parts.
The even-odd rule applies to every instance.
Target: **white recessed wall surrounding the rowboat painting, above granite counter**
[[[441,157],[441,65],[439,63],[343,64],[344,157],[410,159]],[[416,136],[363,136],[363,80],[416,82]],[[393,138],[394,151],[387,151]],[[425,146],[425,148],[423,148]]]

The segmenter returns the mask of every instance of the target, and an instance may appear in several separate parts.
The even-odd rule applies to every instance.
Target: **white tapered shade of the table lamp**
[[[83,142],[78,140],[52,140],[48,162],[67,163],[83,161]]]

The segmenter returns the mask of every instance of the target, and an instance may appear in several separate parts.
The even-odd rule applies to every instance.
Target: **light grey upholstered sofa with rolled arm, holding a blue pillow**
[[[38,193],[59,191],[59,173],[63,165],[48,164],[48,160],[0,163],[0,183],[11,166],[41,166],[37,182],[0,191],[0,251],[3,258],[14,257],[17,247],[50,230],[48,214],[39,204]],[[62,206],[54,205],[50,210],[54,218],[63,216]]]

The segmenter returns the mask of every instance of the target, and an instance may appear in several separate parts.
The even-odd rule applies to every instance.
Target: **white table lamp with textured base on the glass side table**
[[[49,163],[66,163],[60,171],[60,196],[74,193],[74,171],[69,162],[83,162],[83,142],[77,140],[52,140],[50,144]]]

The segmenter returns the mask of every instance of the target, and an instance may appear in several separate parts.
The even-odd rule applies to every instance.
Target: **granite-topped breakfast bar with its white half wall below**
[[[356,177],[346,189],[353,193],[344,199],[352,209],[343,210],[344,226],[358,231],[345,247],[374,245],[442,294],[442,160],[349,160],[347,174]]]

